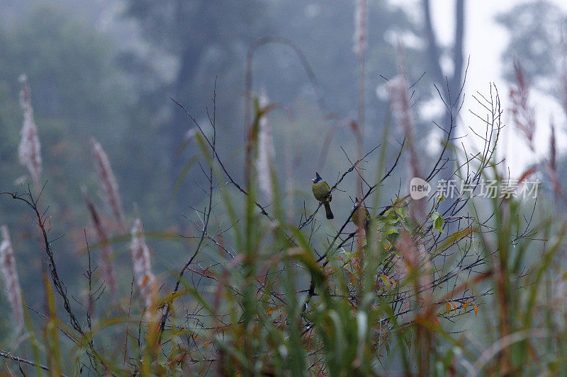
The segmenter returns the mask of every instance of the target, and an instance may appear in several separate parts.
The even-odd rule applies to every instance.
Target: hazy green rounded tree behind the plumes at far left
[[[10,28],[0,28],[0,191],[23,192],[27,187],[17,152],[23,121],[18,104],[21,74],[28,76],[42,144],[47,181],[42,197],[54,219],[50,237],[65,235],[54,248],[60,272],[68,282],[76,282],[81,279],[77,265],[84,262],[77,250],[84,248],[83,229],[89,224],[80,186],[94,184],[89,137],[100,139],[116,158],[130,100],[113,65],[108,39],[84,28],[64,10],[35,6]],[[30,301],[38,301],[41,291],[33,286],[40,279],[43,252],[39,240],[30,236],[37,230],[30,227],[29,216],[19,215],[25,211],[20,203],[0,200],[0,224],[9,224],[18,260],[28,261],[18,265],[23,289]]]

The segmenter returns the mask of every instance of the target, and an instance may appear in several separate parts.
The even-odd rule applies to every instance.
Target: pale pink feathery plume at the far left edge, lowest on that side
[[[16,270],[16,258],[13,256],[8,227],[5,225],[0,226],[0,233],[2,236],[2,242],[0,243],[0,270],[4,277],[4,289],[6,289],[6,296],[8,296],[8,301],[12,308],[16,332],[20,332],[23,328],[23,305],[20,280]]]

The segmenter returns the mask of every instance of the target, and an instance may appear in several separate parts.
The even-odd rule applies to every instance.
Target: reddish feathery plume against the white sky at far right
[[[529,105],[529,83],[522,71],[520,63],[514,62],[515,87],[510,88],[512,101],[512,122],[526,138],[529,149],[534,149],[534,132],[536,129],[535,110]]]

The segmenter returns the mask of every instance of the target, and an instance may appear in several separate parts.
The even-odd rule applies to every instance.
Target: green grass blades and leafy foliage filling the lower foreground
[[[256,108],[249,128],[251,160],[257,158],[258,124],[270,110]],[[215,157],[215,139],[204,134],[195,139],[202,163],[208,164],[203,173],[208,170],[211,180],[222,182],[226,173]],[[174,294],[160,292],[155,307],[140,308],[136,301],[142,298],[136,294],[133,301],[125,297],[110,306],[101,304],[96,322],[80,334],[65,324],[64,313],[55,307],[56,293],[45,280],[49,298],[45,342],[32,362],[47,359],[51,371],[62,373],[77,373],[80,365],[98,373],[144,375],[208,371],[367,376],[391,369],[444,375],[470,368],[478,373],[562,368],[563,361],[553,355],[565,347],[567,328],[550,303],[553,299],[540,288],[551,284],[544,280],[561,250],[567,223],[557,228],[544,221],[532,227],[519,216],[529,203],[495,198],[488,220],[476,210],[479,203],[471,200],[471,212],[479,215],[468,219],[466,228],[454,231],[437,211],[439,201],[418,225],[409,216],[410,199],[396,197],[371,212],[366,234],[353,233],[352,243],[337,238],[321,257],[323,239],[286,220],[274,170],[270,214],[258,209],[256,182],[262,178],[254,166],[247,166],[246,194],[220,187],[218,199],[232,224],[222,233],[232,236],[223,236],[221,245],[211,225],[203,233],[210,236],[196,240],[197,250],[213,257],[215,264],[206,269],[196,264],[193,278],[181,279],[182,288]],[[495,168],[490,174],[501,180]],[[546,235],[549,247],[534,240],[536,231]],[[166,235],[155,236],[167,240]],[[420,255],[420,247],[431,247],[429,255]],[[451,260],[471,248],[478,248],[481,272],[451,280],[459,275],[447,270],[467,268],[464,260]],[[530,258],[534,253],[542,257]],[[441,260],[442,265],[432,270]],[[524,274],[525,267],[533,273]],[[445,282],[428,280],[437,275]],[[207,282],[196,282],[195,276]],[[172,311],[162,332],[159,320],[164,312],[157,308],[164,303]],[[197,310],[184,310],[190,307]],[[480,326],[477,315],[490,329],[485,337],[474,330]],[[37,334],[28,323],[31,347]],[[67,344],[57,327],[74,344]],[[561,336],[551,337],[551,329]],[[469,337],[462,337],[462,331]],[[503,339],[510,342],[500,349]],[[96,347],[102,342],[110,342],[116,352]],[[480,351],[478,342],[485,345]],[[70,353],[64,361],[62,352],[67,349]],[[548,356],[542,359],[541,354]],[[86,364],[89,359],[91,366]]]

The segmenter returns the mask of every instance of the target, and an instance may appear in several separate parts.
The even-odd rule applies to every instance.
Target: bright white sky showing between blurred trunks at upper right
[[[391,4],[402,6],[408,10],[412,18],[421,18],[421,0],[390,0]],[[520,175],[524,168],[536,162],[538,159],[545,158],[549,153],[549,120],[553,116],[556,125],[559,153],[564,151],[567,145],[566,118],[560,106],[554,98],[544,95],[532,88],[531,105],[536,108],[537,130],[535,132],[534,144],[537,156],[529,151],[527,144],[518,132],[515,132],[510,119],[508,93],[510,85],[503,78],[504,72],[511,70],[512,67],[505,67],[501,62],[503,50],[507,46],[509,36],[507,30],[495,22],[495,16],[499,13],[509,11],[517,4],[527,1],[518,0],[468,0],[465,9],[465,58],[470,56],[470,66],[468,67],[466,95],[463,110],[461,111],[460,124],[461,134],[468,132],[468,126],[474,127],[478,131],[483,131],[483,124],[478,118],[468,112],[468,109],[480,112],[480,106],[472,98],[477,91],[488,95],[490,83],[495,83],[500,93],[500,100],[503,105],[503,122],[506,127],[503,131],[502,142],[500,144],[500,154],[506,156],[507,166],[510,167],[512,175]],[[551,3],[567,12],[567,2],[561,0],[551,0]],[[437,40],[442,45],[449,45],[454,40],[454,1],[432,0],[432,19]],[[442,62],[442,65],[443,62]],[[445,67],[444,67],[445,68]],[[451,67],[449,67],[450,69]],[[427,104],[431,108],[432,104]],[[431,117],[432,112],[422,112],[422,115]],[[481,115],[481,114],[478,114]],[[460,143],[459,143],[460,144]]]

